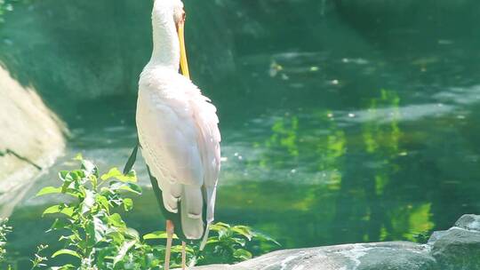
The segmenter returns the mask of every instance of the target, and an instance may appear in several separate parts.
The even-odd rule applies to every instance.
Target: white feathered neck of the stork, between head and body
[[[172,68],[180,67],[180,42],[174,22],[153,22],[153,52],[151,65]]]

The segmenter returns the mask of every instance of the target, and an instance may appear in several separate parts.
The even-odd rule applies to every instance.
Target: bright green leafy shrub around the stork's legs
[[[128,227],[121,216],[122,211],[133,209],[132,198],[140,195],[135,171],[124,175],[114,168],[100,175],[99,169],[90,161],[77,157],[81,168],[60,171],[60,187],[44,187],[37,195],[67,195],[65,203],[44,210],[55,220],[49,232],[61,234],[63,248],[56,250],[52,258],[68,258],[68,263],[53,266],[55,270],[68,269],[154,269],[164,264],[164,245],[154,244],[165,239],[165,232],[140,236]],[[224,223],[212,225],[212,236],[204,250],[188,246],[189,265],[207,263],[233,263],[252,258],[246,249],[247,242],[271,242],[263,234],[253,232],[248,226],[229,226]],[[40,246],[37,254],[46,246]],[[45,266],[46,258],[36,255],[34,268]],[[181,245],[172,247],[172,266],[180,266]],[[58,264],[58,262],[57,262]]]

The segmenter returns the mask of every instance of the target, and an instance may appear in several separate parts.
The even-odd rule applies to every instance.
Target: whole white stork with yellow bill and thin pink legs
[[[165,269],[173,232],[182,241],[207,238],[220,171],[219,119],[189,80],[184,24],[180,0],[155,1],[153,52],[140,75],[137,104],[141,154],[167,219]]]

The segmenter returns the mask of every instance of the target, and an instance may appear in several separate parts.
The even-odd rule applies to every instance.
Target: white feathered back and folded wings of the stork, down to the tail
[[[165,209],[176,213],[180,202],[183,232],[198,239],[204,233],[204,221],[210,223],[213,218],[220,170],[218,118],[215,107],[195,85],[180,80],[175,87],[167,95],[140,87],[140,146],[162,189]],[[202,218],[204,204],[207,220]]]

